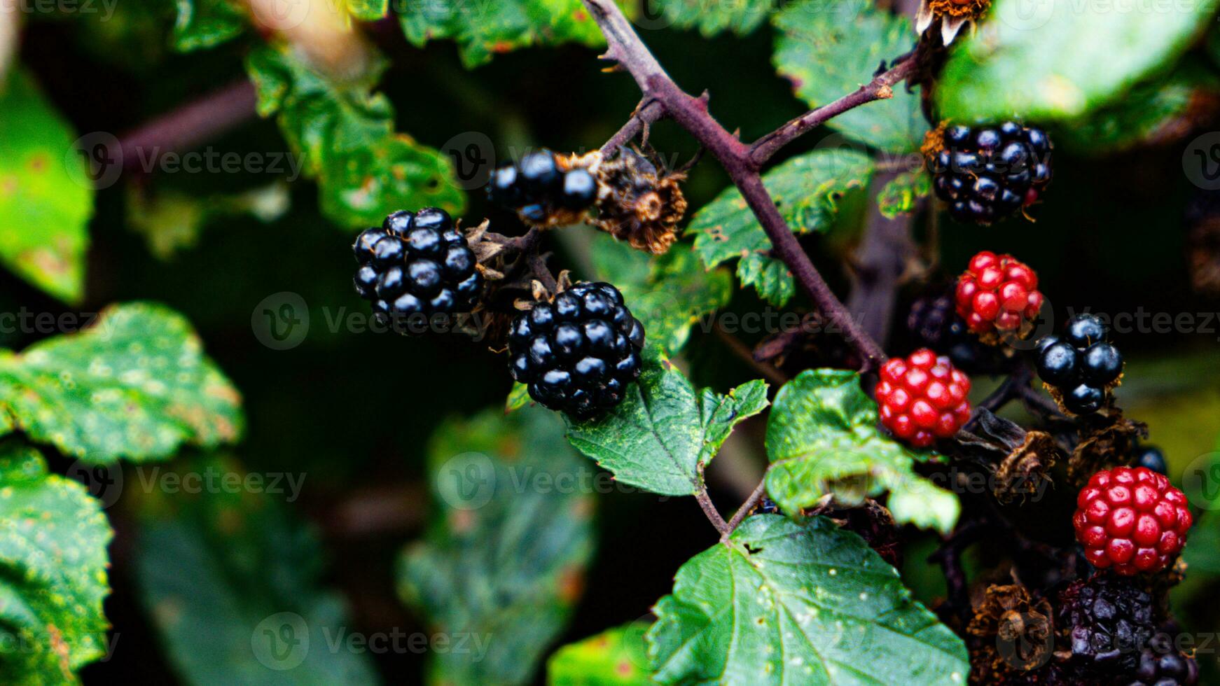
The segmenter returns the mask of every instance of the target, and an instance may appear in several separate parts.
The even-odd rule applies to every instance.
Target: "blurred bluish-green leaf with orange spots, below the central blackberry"
[[[527,682],[583,586],[593,470],[537,408],[443,424],[428,465],[436,511],[400,559],[399,595],[434,631],[468,638],[431,654],[429,681]]]

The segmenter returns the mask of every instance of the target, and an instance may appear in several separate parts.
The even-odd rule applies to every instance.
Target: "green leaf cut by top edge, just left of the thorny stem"
[[[581,0],[415,2],[399,13],[399,22],[406,39],[418,46],[429,40],[455,40],[467,68],[531,45],[604,43]]]

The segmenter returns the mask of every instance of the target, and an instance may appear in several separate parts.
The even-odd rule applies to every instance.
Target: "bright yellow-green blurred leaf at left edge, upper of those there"
[[[0,87],[0,262],[70,303],[84,297],[93,186],[76,134],[22,69]]]

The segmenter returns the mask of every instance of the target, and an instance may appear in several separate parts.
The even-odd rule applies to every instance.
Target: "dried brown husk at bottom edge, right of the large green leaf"
[[[1033,673],[1053,658],[1052,615],[1050,603],[1035,599],[1025,586],[988,586],[966,626],[978,638],[971,642],[970,682],[1039,682]]]

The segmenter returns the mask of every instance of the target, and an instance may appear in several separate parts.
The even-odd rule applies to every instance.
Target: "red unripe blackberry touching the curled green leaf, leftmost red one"
[[[881,367],[877,413],[894,437],[914,447],[948,439],[970,420],[970,378],[928,348]]]

